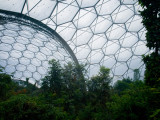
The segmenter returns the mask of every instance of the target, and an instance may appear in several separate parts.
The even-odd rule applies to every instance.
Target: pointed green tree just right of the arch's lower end
[[[102,105],[109,98],[110,83],[112,80],[109,72],[110,70],[108,68],[102,66],[98,75],[92,77],[87,83],[89,94],[95,97],[95,102],[100,102]]]

